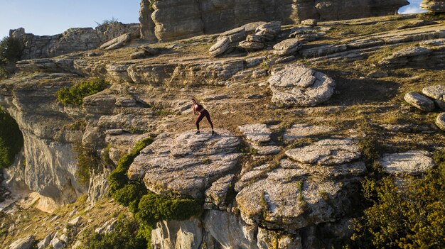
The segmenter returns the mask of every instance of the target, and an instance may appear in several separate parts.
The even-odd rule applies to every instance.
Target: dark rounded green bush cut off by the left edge
[[[14,118],[0,106],[0,169],[9,167],[23,147],[23,135]]]

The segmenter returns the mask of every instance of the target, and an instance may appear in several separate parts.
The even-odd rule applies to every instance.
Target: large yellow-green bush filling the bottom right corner
[[[363,182],[372,206],[354,221],[353,248],[445,248],[445,151],[421,178]]]

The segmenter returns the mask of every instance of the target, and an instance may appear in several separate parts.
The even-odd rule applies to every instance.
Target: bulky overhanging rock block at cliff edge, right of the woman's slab
[[[243,183],[237,183],[241,216],[251,225],[289,231],[335,221],[347,213],[366,172],[363,162],[316,166],[282,160],[269,172],[267,167],[246,172]],[[265,177],[257,174],[264,171]]]

